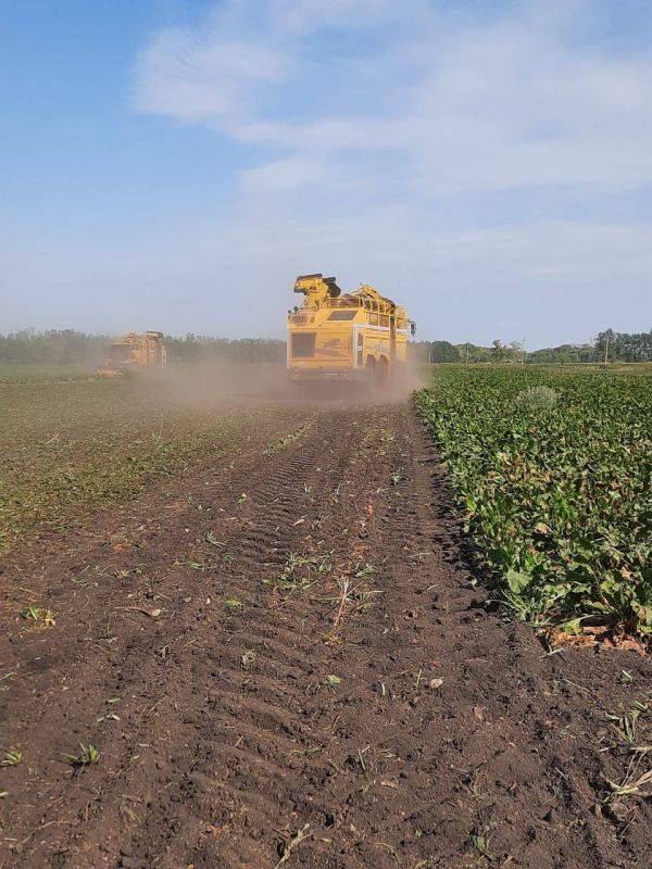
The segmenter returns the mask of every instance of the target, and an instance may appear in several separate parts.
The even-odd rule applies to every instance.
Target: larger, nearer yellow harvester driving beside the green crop
[[[405,364],[416,326],[404,307],[374,287],[363,284],[342,294],[335,278],[300,275],[294,292],[305,299],[288,312],[290,380],[380,385]]]

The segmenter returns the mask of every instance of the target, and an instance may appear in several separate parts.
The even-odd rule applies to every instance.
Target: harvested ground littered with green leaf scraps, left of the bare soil
[[[138,494],[174,483],[206,451],[294,430],[292,408],[184,400],[165,383],[71,379],[0,387],[0,555]]]

